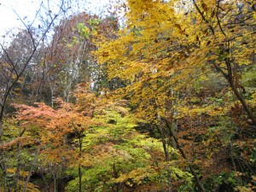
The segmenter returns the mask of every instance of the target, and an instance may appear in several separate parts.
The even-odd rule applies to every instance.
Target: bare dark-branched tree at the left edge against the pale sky
[[[41,4],[43,9],[44,4]],[[26,24],[25,21],[21,20],[25,29],[17,34],[15,39],[9,45],[8,48],[4,44],[1,44],[1,67],[3,67],[3,74],[1,74],[1,101],[0,101],[0,141],[3,135],[3,113],[6,108],[6,102],[13,90],[15,84],[19,82],[22,78],[23,73],[26,68],[32,65],[33,58],[40,47],[42,40],[46,37],[51,26],[55,22],[58,14],[61,13],[63,7],[63,2],[61,2],[59,7],[59,13],[56,15],[47,15],[47,25],[40,27],[40,29],[35,29],[32,24],[34,20],[37,20],[40,15],[38,12],[35,15],[34,20],[31,23]],[[41,10],[41,9],[39,9]],[[50,12],[49,12],[50,13]],[[19,17],[19,15],[17,15]],[[15,36],[15,34],[13,34]],[[7,45],[8,46],[8,45]]]

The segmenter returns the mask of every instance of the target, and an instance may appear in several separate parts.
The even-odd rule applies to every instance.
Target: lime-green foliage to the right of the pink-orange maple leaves
[[[164,155],[161,143],[135,130],[135,119],[122,107],[104,108],[94,115],[96,126],[86,131],[83,148],[90,154],[90,166],[83,165],[83,189],[112,191],[117,185],[136,188],[159,183],[166,177],[165,166],[154,160],[154,153]],[[177,151],[173,149],[173,154]],[[86,168],[85,168],[86,167]],[[191,182],[188,172],[170,167],[173,180]],[[166,178],[164,179],[166,182]],[[67,184],[67,191],[78,190],[78,177]]]

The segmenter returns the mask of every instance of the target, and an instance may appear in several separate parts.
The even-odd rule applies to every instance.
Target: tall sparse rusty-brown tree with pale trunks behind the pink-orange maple
[[[63,18],[49,44],[45,43],[41,59],[28,73],[26,89],[32,100],[53,106],[57,97],[68,102],[76,84],[90,82],[98,93],[101,87],[108,87],[104,67],[96,64],[90,52],[96,49],[93,38],[109,36],[116,30],[115,22],[84,12]]]

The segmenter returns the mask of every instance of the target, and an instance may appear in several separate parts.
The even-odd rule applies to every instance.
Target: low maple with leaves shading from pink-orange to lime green
[[[16,120],[24,129],[19,140],[26,139],[23,146],[37,141],[38,160],[44,162],[41,166],[61,166],[62,174],[77,172],[67,190],[165,189],[166,166],[172,179],[179,180],[175,188],[183,182],[192,186],[189,173],[176,166],[179,155],[174,148],[176,158],[170,165],[154,157],[163,156],[160,142],[135,131],[136,119],[125,108],[125,101],[114,103],[96,97],[84,84],[74,96],[75,105],[57,100],[56,109],[44,103],[35,103],[36,107],[15,105],[19,108]],[[3,149],[14,147],[16,142],[5,143]],[[74,171],[76,167],[78,171]]]

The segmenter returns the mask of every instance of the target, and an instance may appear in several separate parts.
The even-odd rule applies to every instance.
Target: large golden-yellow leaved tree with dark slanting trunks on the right
[[[166,144],[173,145],[173,139],[184,159],[189,154],[183,152],[177,139],[177,120],[181,126],[189,113],[198,119],[201,114],[214,119],[232,110],[228,104],[204,103],[211,95],[195,97],[198,105],[191,103],[188,92],[200,90],[198,85],[208,82],[213,74],[221,82],[220,91],[230,87],[247,118],[254,121],[254,105],[247,104],[253,100],[245,100],[242,92],[249,90],[240,80],[243,70],[253,65],[255,40],[255,13],[245,4],[128,1],[125,29],[118,38],[99,42],[96,55],[100,63],[107,63],[109,79],[128,82],[116,92],[117,96],[129,98],[134,112],[158,127],[164,148]],[[249,95],[253,96],[253,91]],[[193,165],[189,168],[200,189],[206,191],[194,174]]]

